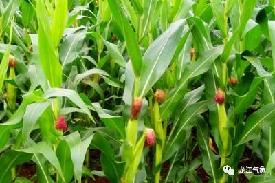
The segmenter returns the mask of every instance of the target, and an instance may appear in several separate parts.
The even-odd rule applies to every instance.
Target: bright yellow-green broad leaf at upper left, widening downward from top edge
[[[44,1],[36,1],[36,15],[39,21],[39,56],[44,74],[50,82],[51,87],[61,87],[62,69],[61,63],[56,56],[54,43],[50,34],[50,21]]]

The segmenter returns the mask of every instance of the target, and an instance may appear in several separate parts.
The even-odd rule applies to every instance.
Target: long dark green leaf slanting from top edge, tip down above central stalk
[[[115,17],[115,21],[118,22],[122,30],[135,76],[139,77],[143,61],[142,54],[140,53],[140,47],[137,42],[137,35],[133,32],[129,21],[124,16],[118,0],[108,0],[108,3],[111,8],[111,12],[113,13],[113,17]]]

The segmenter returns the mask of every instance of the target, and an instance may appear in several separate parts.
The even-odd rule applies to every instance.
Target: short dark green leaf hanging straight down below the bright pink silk
[[[71,182],[74,175],[74,165],[72,162],[71,151],[67,142],[61,141],[56,149],[56,156],[61,164],[61,169],[66,182]]]

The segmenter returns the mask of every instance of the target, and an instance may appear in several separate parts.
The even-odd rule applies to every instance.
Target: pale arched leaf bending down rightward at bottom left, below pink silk
[[[54,166],[54,168],[58,171],[58,174],[61,175],[61,178],[63,181],[65,181],[63,172],[61,169],[61,164],[58,161],[58,158],[56,157],[56,154],[54,153],[54,150],[52,147],[50,147],[47,142],[42,141],[39,142],[38,144],[34,144],[31,147],[28,147],[26,149],[17,149],[19,152],[24,152],[24,153],[40,153],[43,154],[43,156]]]

